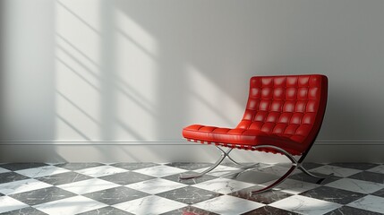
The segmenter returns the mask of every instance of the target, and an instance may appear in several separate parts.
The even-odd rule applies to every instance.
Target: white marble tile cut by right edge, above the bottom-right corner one
[[[343,189],[347,191],[353,191],[357,193],[366,193],[366,194],[374,193],[384,188],[384,185],[380,183],[361,181],[361,180],[351,179],[351,178],[342,178],[340,180],[327,184],[327,186],[335,187],[335,188]]]

